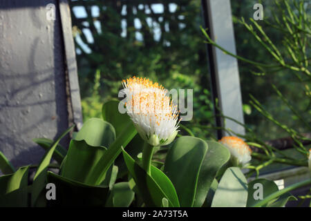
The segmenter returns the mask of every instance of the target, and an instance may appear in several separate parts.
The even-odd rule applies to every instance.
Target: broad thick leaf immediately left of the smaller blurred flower
[[[230,158],[230,153],[223,144],[207,141],[207,145],[209,148],[203,160],[198,177],[198,185],[196,186],[196,197],[194,199],[195,207],[200,207],[205,202],[209,187],[215,179],[218,170],[228,162]]]

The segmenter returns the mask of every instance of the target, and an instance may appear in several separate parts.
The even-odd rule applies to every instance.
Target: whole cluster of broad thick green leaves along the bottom
[[[55,142],[36,140],[44,148],[50,147],[46,148],[46,154],[37,166],[32,184],[28,184],[28,169],[36,166],[23,166],[16,172],[2,175],[0,205],[283,206],[294,199],[290,191],[311,183],[311,180],[306,180],[281,191],[268,180],[254,180],[247,184],[238,168],[229,167],[222,174],[223,166],[230,157],[223,144],[191,136],[179,137],[170,146],[164,147],[169,147],[164,164],[159,166],[160,169],[151,165],[151,171],[147,173],[141,166],[142,160],[137,157],[144,142],[137,137],[133,139],[137,132],[131,127],[131,122],[129,126],[128,118],[120,121],[116,117],[120,113],[112,116],[109,112],[117,110],[117,105],[117,102],[104,104],[104,116],[111,122],[88,119],[71,140],[68,151],[59,146],[59,141],[73,126]],[[118,131],[116,137],[113,125]],[[129,149],[129,153],[135,156],[135,160],[122,146],[134,148]],[[62,155],[55,154],[57,149]],[[117,179],[119,167],[115,164],[122,165],[120,160],[116,160],[121,151],[126,170],[122,168],[123,174]],[[49,164],[52,157],[63,159],[55,166],[60,168],[58,173],[48,171],[53,166]],[[252,199],[256,182],[264,186],[263,200]],[[45,188],[47,183],[55,184],[56,200],[46,200],[46,194],[50,194],[50,190]]]

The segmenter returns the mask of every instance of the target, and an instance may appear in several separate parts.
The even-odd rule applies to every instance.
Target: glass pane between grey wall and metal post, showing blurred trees
[[[198,137],[214,137],[201,1],[154,2],[70,2],[84,120],[100,117],[122,79],[135,75],[168,90],[186,89],[186,95],[193,89],[194,115],[182,125]]]

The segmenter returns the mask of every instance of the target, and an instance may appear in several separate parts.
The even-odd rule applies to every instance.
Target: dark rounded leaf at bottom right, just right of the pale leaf
[[[258,187],[257,185],[262,185],[262,191],[263,191],[263,199],[266,198],[268,195],[279,191],[278,186],[271,180],[266,180],[266,179],[257,179],[257,180],[253,180],[252,182],[249,182],[248,184],[248,198],[247,198],[247,207],[250,206],[254,206],[254,204],[256,204],[257,202],[260,202],[261,200],[255,200],[254,198],[254,193],[255,196],[258,194],[258,188],[261,189],[261,186]],[[254,186],[255,185],[255,186]],[[267,205],[265,205],[267,206]]]

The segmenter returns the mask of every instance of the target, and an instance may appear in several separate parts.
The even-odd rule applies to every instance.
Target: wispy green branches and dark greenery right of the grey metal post
[[[248,114],[247,124],[237,122],[247,133],[238,136],[263,153],[252,153],[256,160],[248,166],[252,171],[247,176],[254,172],[258,176],[259,170],[272,168],[275,163],[307,166],[311,129],[310,2],[263,1],[263,21],[254,21],[249,15],[253,11],[241,10],[241,3],[232,2],[238,55],[216,44],[205,30],[202,32],[208,44],[239,61],[243,100],[247,104],[244,110]],[[251,9],[253,4],[243,1],[246,8]],[[243,36],[238,35],[241,32]],[[291,154],[266,142],[285,136],[293,141]]]

